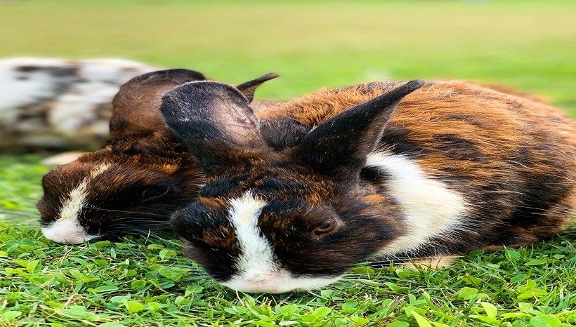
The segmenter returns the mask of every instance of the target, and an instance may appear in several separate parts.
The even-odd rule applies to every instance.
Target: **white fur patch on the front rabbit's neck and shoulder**
[[[385,171],[386,187],[405,213],[407,234],[381,248],[377,256],[409,252],[430,239],[462,230],[468,203],[443,182],[434,180],[407,156],[375,152],[367,156],[367,167]]]

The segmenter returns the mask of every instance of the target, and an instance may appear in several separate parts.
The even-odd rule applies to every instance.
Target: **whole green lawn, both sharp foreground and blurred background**
[[[258,98],[393,79],[536,93],[576,116],[576,1],[0,0],[0,58],[119,57],[240,83]],[[576,231],[445,269],[358,266],[322,291],[219,286],[177,240],[61,246],[34,203],[43,155],[0,154],[0,326],[574,326]]]

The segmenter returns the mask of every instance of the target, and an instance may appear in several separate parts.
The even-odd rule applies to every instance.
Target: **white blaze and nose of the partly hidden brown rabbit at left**
[[[89,182],[98,175],[107,171],[110,165],[103,163],[93,168],[90,177],[84,178],[77,187],[74,187],[63,202],[58,219],[51,222],[50,225],[42,227],[42,233],[46,239],[51,239],[57,243],[77,244],[83,241],[89,241],[98,237],[98,235],[89,235],[78,222],[82,208],[86,205],[86,189]]]

